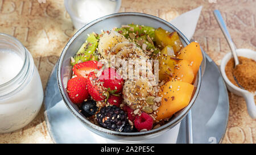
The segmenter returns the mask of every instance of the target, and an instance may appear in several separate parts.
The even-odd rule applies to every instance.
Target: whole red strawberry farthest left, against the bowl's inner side
[[[67,92],[69,99],[75,104],[82,103],[89,97],[87,79],[84,77],[71,78],[68,81]]]

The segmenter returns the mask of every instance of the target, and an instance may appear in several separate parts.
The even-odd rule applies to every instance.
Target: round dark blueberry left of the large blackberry
[[[96,106],[96,102],[94,100],[86,100],[86,102],[82,102],[81,112],[85,117],[89,117],[94,115],[98,110]]]

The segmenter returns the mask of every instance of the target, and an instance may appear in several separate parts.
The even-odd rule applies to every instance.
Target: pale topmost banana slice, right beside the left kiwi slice
[[[122,41],[128,41],[125,36],[118,32],[110,31],[110,33],[105,33],[99,41],[98,49],[104,58],[108,58],[110,50]]]

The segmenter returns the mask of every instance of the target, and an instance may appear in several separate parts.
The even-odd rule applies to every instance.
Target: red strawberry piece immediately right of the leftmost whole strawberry
[[[104,100],[106,97],[104,95],[104,88],[100,85],[100,82],[98,81],[98,78],[96,77],[96,74],[94,72],[90,72],[88,74],[88,82],[87,87],[90,96],[96,100]]]

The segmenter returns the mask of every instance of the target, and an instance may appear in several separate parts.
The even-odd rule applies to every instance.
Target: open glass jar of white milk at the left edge
[[[23,66],[14,78],[0,83],[0,133],[26,126],[38,114],[43,102],[42,82],[30,52],[13,36],[0,33],[0,52],[6,50],[18,55]],[[11,63],[8,61],[6,65],[13,65]],[[3,76],[1,72],[0,76]]]

